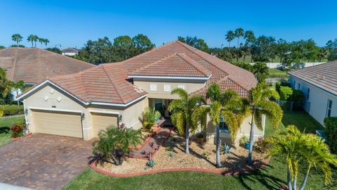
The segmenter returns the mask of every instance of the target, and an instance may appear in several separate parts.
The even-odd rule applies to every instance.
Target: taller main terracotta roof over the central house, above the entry
[[[199,77],[202,74],[209,76],[210,72],[207,84],[228,79],[227,81],[232,81],[231,87],[244,91],[238,91],[239,94],[247,94],[257,84],[251,72],[179,41],[152,49],[123,63],[129,75]],[[223,89],[227,87],[221,86]]]

